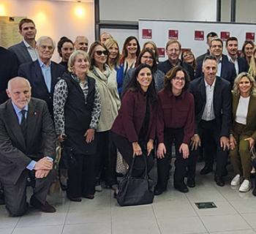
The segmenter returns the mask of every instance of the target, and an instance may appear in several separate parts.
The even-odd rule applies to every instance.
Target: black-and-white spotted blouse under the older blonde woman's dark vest
[[[72,78],[80,84],[80,87],[83,90],[83,95],[86,99],[88,92],[89,92],[89,86],[87,80],[85,80],[85,83],[82,83],[79,78],[72,74]],[[55,122],[55,128],[56,128],[56,134],[61,135],[64,134],[64,123],[65,123],[65,117],[64,117],[64,106],[67,101],[67,97],[69,94],[69,90],[67,87],[67,82],[63,79],[59,80],[58,83],[56,83],[56,86],[54,88],[54,95],[53,95],[53,113],[54,113],[54,122]],[[97,125],[99,123],[99,114],[101,111],[100,107],[100,96],[99,96],[99,90],[97,88],[97,84],[95,83],[95,94],[94,94],[94,106],[92,108],[91,112],[91,129],[97,129]]]

